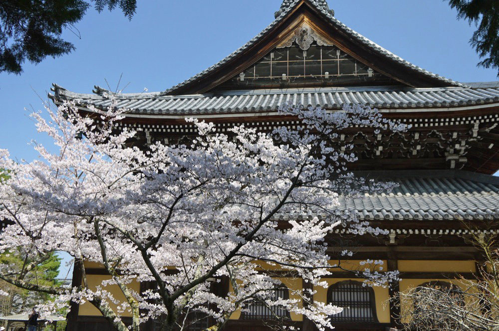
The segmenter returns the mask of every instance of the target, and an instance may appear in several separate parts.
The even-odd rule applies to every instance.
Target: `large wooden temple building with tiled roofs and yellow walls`
[[[99,87],[94,94],[52,90],[55,104],[74,100],[82,111],[111,104],[111,92]],[[130,110],[120,126],[141,128],[136,143],[142,145],[192,137],[186,117],[213,122],[219,132],[243,123],[261,132],[296,127],[296,118],[277,111],[285,104],[328,111],[370,105],[412,126],[389,135],[359,127],[340,135],[355,146],[352,170],[400,184],[386,194],[340,198],[342,208],[389,232],[359,237],[338,227],[336,242],[350,243],[355,253],[343,259],[352,268],[366,258],[383,260],[401,280],[391,288],[366,288],[362,279],[334,272],[329,289],[317,289],[313,300],[350,307],[332,316],[336,330],[399,327],[401,308],[388,303],[391,296],[429,282],[459,286],[458,273],[473,279],[482,258],[470,237],[498,231],[499,83],[459,83],[411,64],[342,24],[324,0],[284,0],[268,27],[219,63],[165,91],[116,98],[118,107]],[[330,244],[329,250],[341,247]],[[109,277],[97,265],[86,264],[85,271],[90,282]],[[73,285],[81,282],[80,272],[75,268]],[[73,308],[68,330],[108,330],[90,304]],[[233,315],[226,330],[270,330],[265,320],[272,314],[264,307],[251,312]],[[315,330],[302,316],[286,318],[302,331]],[[204,323],[189,330],[203,330]]]

